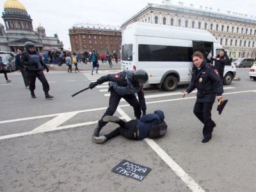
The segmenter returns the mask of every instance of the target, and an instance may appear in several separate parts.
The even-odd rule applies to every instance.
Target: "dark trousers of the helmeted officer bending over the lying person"
[[[132,108],[134,109],[134,116],[136,116],[136,118],[140,118],[141,108],[136,96],[132,94],[132,95],[125,95],[122,97],[118,95],[113,89],[110,91],[109,107],[107,111],[104,113],[104,115],[102,116],[102,118],[106,115],[110,115],[110,116],[114,115],[116,108],[118,107],[118,104],[122,98],[124,98],[132,106]],[[99,120],[100,127],[103,127],[104,125],[107,124],[106,122],[103,122],[102,118]]]

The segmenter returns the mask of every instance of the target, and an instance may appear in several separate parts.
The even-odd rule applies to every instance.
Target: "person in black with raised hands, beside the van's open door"
[[[220,54],[215,57],[211,57],[211,60],[214,60],[214,67],[216,67],[216,69],[218,70],[221,80],[223,81],[225,64],[229,60],[227,54],[225,54],[224,50],[221,50]]]

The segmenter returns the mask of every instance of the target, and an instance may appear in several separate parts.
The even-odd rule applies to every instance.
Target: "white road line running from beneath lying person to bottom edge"
[[[128,122],[131,118],[121,109],[117,108],[116,111],[120,115],[124,116],[125,120]],[[193,192],[205,192],[191,177],[177,164],[172,157],[170,157],[164,150],[154,140],[145,138],[144,141],[156,152],[156,154],[163,159],[163,161],[173,170],[176,175],[186,184],[186,186]]]

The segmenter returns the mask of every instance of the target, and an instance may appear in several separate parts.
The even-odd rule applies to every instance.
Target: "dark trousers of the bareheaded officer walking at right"
[[[194,113],[196,117],[204,124],[204,138],[211,138],[214,122],[211,119],[212,102],[196,102]]]

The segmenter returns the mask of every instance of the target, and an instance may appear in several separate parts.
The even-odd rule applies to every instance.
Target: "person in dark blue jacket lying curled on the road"
[[[104,143],[115,136],[121,134],[128,140],[143,140],[144,138],[160,138],[167,131],[164,122],[164,113],[161,110],[154,111],[152,114],[141,116],[140,120],[125,122],[117,116],[104,116],[104,122],[113,122],[120,127],[109,134],[93,138],[93,143]]]

